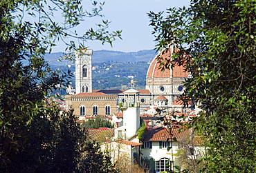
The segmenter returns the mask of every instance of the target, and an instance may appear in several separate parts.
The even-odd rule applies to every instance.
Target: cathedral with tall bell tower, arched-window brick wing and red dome
[[[163,59],[170,58],[173,50],[160,52]],[[125,90],[93,90],[92,50],[84,49],[75,54],[75,90],[67,90],[66,105],[74,109],[76,116],[109,116],[120,112],[120,104],[125,103]],[[157,56],[159,56],[158,54]],[[148,108],[159,108],[165,112],[187,112],[177,96],[184,92],[183,82],[189,77],[184,66],[159,69],[156,57],[149,65],[145,90],[138,90],[140,113]],[[179,104],[177,104],[179,103]]]

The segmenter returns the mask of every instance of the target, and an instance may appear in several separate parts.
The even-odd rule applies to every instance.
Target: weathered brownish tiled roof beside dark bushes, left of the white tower
[[[115,135],[114,129],[106,129],[106,128],[99,128],[99,129],[87,129],[86,130],[91,137],[91,139],[95,141],[106,141],[106,137],[113,137]]]

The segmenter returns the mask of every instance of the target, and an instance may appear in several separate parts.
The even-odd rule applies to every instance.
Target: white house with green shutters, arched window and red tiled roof
[[[192,136],[192,130],[181,130],[180,132],[180,128],[176,127],[147,128],[142,139],[141,160],[147,161],[149,171],[156,173],[167,172],[170,169],[175,171],[175,165],[184,167],[183,158],[185,157],[186,161],[190,159],[197,163],[203,148],[198,141],[192,139]],[[185,155],[181,154],[182,152]]]

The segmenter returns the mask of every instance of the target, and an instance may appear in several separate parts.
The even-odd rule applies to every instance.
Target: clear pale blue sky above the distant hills
[[[86,0],[86,3],[92,1]],[[89,4],[85,4],[88,6]],[[88,28],[95,28],[95,23],[102,19],[111,21],[109,30],[122,30],[122,40],[113,41],[102,45],[100,41],[86,41],[84,45],[91,50],[115,50],[122,52],[137,52],[139,50],[152,50],[155,47],[152,26],[149,26],[147,13],[166,11],[167,8],[188,7],[190,0],[105,0],[102,14],[103,18],[86,18],[80,26],[78,33],[85,32]],[[53,52],[64,52],[64,43],[57,43]]]

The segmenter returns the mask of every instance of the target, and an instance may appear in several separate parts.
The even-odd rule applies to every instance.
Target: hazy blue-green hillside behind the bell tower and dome
[[[75,72],[71,61],[57,61],[62,52],[46,54],[46,61],[53,70]],[[118,52],[98,50],[93,52],[93,90],[128,89],[134,85],[136,89],[145,88],[145,79],[149,62],[156,56],[155,50],[140,50],[138,52]],[[75,77],[69,79],[75,87]]]

